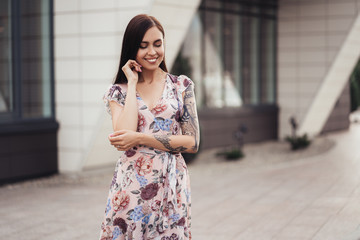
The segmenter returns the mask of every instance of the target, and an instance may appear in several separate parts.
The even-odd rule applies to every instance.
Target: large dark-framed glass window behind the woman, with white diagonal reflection
[[[174,63],[200,107],[275,104],[276,1],[203,0]],[[184,59],[189,64],[179,68]]]

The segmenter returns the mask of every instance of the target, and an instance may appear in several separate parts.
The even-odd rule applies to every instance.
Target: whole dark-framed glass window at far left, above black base
[[[52,1],[0,4],[0,122],[51,118]]]

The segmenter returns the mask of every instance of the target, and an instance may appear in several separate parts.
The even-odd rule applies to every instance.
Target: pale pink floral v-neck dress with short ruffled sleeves
[[[186,76],[166,75],[161,98],[152,109],[137,94],[138,132],[181,135],[182,93],[193,82]],[[111,85],[104,95],[125,104],[127,84]],[[122,152],[115,166],[101,240],[191,239],[190,180],[180,153],[136,146]]]

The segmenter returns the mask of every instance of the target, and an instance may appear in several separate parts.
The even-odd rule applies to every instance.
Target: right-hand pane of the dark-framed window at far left
[[[49,1],[21,1],[21,82],[24,118],[51,117]]]

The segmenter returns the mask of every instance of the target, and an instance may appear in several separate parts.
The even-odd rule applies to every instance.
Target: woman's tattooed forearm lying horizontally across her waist
[[[196,153],[198,146],[194,136],[140,134],[139,145],[153,147],[167,152]]]

